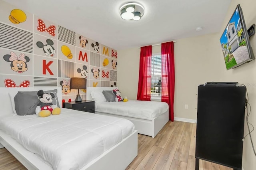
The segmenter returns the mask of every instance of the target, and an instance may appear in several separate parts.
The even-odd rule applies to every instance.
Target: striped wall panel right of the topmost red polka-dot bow
[[[76,45],[76,33],[62,26],[58,26],[58,40],[71,45]]]

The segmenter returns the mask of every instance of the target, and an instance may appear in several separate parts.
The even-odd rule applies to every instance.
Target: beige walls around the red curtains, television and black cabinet
[[[196,119],[198,85],[207,81],[237,81],[245,84],[248,89],[249,102],[252,106],[249,121],[256,127],[256,61],[227,71],[219,41],[227,22],[239,3],[244,13],[246,26],[249,28],[256,23],[256,1],[232,0],[219,33],[176,40],[174,43],[176,74],[174,117]],[[250,38],[250,42],[256,55],[255,35]],[[152,53],[160,51],[160,45],[152,48]],[[128,99],[136,99],[140,49],[138,47],[121,50],[118,51],[118,55],[119,68],[122,68],[118,70],[118,87],[123,96],[127,96]],[[188,109],[184,109],[185,104],[188,104]],[[245,124],[244,134],[247,133],[248,129]],[[252,132],[252,138],[256,145],[256,130]],[[244,170],[256,169],[256,156],[254,156],[249,137],[244,141],[242,166]]]

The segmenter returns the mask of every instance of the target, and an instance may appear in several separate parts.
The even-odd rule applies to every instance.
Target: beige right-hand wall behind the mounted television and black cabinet
[[[237,4],[240,4],[242,8],[246,27],[249,28],[252,24],[256,24],[256,1],[232,0],[228,13],[225,17],[225,21],[222,25],[222,30],[224,30],[226,27],[226,24],[234,12]],[[220,37],[221,34],[222,33],[218,34],[218,37]],[[250,43],[254,51],[254,55],[256,56],[256,35],[250,38]],[[238,81],[239,83],[244,83],[246,85],[249,95],[249,103],[252,106],[251,115],[248,120],[254,127],[256,127],[256,61],[254,60],[248,64],[241,65],[229,71],[225,71],[224,67],[221,68],[220,81]],[[248,128],[246,123],[244,129],[244,134],[247,134]],[[252,139],[254,141],[254,146],[256,146],[256,130],[252,132]],[[247,136],[246,140],[244,141],[242,166],[244,170],[256,169],[256,156],[253,153],[249,136]]]

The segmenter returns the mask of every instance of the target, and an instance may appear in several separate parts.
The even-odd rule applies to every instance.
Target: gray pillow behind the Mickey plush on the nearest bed
[[[37,96],[38,91],[19,91],[14,97],[14,107],[17,115],[33,115],[36,114],[36,106],[39,103]],[[44,91],[44,93],[53,93],[55,99],[52,104],[60,107],[57,98],[57,89]]]

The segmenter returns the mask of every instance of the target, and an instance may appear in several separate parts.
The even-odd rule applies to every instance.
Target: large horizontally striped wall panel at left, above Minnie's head
[[[0,47],[33,52],[33,33],[0,23]]]

